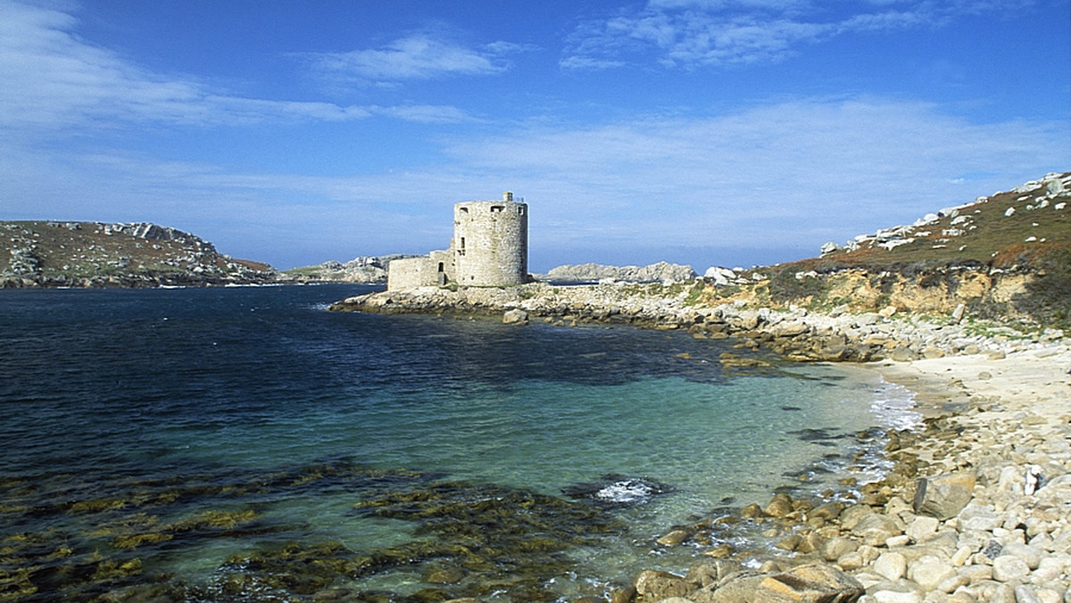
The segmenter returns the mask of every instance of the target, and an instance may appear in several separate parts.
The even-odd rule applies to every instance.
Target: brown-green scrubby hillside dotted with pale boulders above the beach
[[[703,303],[947,314],[1071,332],[1071,172],[706,287]]]

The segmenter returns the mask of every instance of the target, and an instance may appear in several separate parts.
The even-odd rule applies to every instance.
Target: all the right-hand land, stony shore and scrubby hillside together
[[[613,603],[1071,603],[1069,183],[1049,175],[790,265],[380,292],[332,310],[681,329],[791,361],[864,363],[916,392],[925,419],[877,442],[892,464],[880,480],[665,526],[653,544],[698,560],[643,571]],[[772,546],[741,546],[734,530]]]

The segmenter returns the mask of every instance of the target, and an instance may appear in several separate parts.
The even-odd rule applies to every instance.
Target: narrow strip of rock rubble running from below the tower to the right
[[[696,281],[694,286],[704,285]],[[914,315],[897,316],[892,306],[862,314],[835,310],[818,314],[802,308],[778,312],[737,303],[692,307],[687,303],[688,292],[687,285],[677,297],[667,297],[661,286],[646,289],[627,284],[561,287],[534,283],[457,290],[426,287],[359,296],[334,304],[332,310],[496,316],[518,310],[526,318],[511,321],[542,319],[561,325],[685,329],[699,338],[734,336],[743,347],[767,349],[794,361],[906,362],[960,353],[1000,356],[1031,346],[1044,347],[1064,337],[1061,331],[1047,330],[1020,338],[1016,331],[1002,327],[991,329],[989,335],[978,334],[960,325],[963,311],[959,307],[947,322],[935,323]]]

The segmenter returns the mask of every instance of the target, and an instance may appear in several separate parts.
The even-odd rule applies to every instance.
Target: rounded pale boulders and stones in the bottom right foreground
[[[887,448],[895,469],[859,488],[857,500],[779,494],[766,507],[718,518],[780,534],[775,552],[715,546],[687,573],[642,572],[613,600],[1071,601],[1067,402],[1052,417],[980,404],[929,421],[925,432],[899,434]],[[676,531],[659,542],[687,545],[697,528]]]

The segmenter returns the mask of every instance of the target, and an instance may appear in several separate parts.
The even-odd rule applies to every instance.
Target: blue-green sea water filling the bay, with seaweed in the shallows
[[[910,420],[869,373],[726,373],[687,333],[325,312],[363,290],[0,291],[0,593],[598,592]]]

